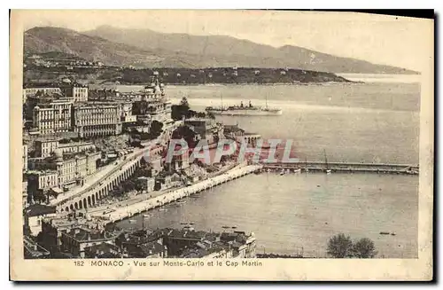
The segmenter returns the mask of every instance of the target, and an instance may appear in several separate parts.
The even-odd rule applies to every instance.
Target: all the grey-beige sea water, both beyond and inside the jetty
[[[279,116],[217,116],[263,138],[291,139],[301,160],[418,164],[420,75],[342,74],[355,83],[167,86],[173,103],[275,106]],[[358,82],[358,83],[356,83]],[[120,91],[142,86],[118,86]],[[418,176],[263,173],[117,225],[247,231],[257,252],[325,257],[331,236],[372,239],[380,258],[416,258]],[[230,230],[227,230],[227,227]],[[380,232],[392,235],[382,235]]]

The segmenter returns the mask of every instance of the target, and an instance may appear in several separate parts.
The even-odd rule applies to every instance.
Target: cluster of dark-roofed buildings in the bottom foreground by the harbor
[[[41,220],[43,247],[73,258],[255,258],[253,233],[162,228],[122,231],[93,227],[82,216]]]

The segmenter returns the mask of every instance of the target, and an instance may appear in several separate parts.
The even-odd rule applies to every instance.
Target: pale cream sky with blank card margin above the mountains
[[[422,71],[433,41],[431,20],[354,12],[39,11],[25,28],[102,25],[191,35],[230,35],[275,47],[286,44],[340,57]]]

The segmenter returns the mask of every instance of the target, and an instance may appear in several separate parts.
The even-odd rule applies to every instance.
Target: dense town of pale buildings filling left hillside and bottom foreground
[[[115,90],[111,94],[94,92],[94,97],[89,99],[88,86],[68,80],[40,90],[27,89],[24,90],[24,117],[27,120],[25,125],[30,123],[31,126],[25,126],[29,136],[22,148],[24,225],[28,236],[32,237],[28,244],[33,245],[34,241],[42,247],[40,252],[43,253],[34,253],[28,247],[27,257],[46,257],[47,252],[51,257],[70,258],[255,255],[255,238],[244,232],[232,232],[229,236],[191,228],[156,231],[120,231],[115,228],[111,231],[108,228],[105,215],[113,211],[115,200],[144,193],[155,197],[157,193],[154,192],[167,192],[197,183],[213,172],[190,161],[188,154],[165,162],[167,144],[175,129],[186,126],[198,139],[206,139],[212,145],[223,137],[223,126],[212,119],[174,121],[171,102],[157,74],[143,91],[130,93],[136,98],[128,98],[128,93]],[[154,125],[159,131],[156,137],[149,135]],[[150,136],[148,140],[152,141],[152,146],[144,156],[134,154],[142,152],[149,142],[144,139],[146,143],[139,142],[137,148],[132,147],[131,129]],[[60,133],[69,133],[72,137]],[[125,136],[113,137],[123,133],[128,137],[127,141],[123,140]],[[101,146],[102,142],[113,138],[122,140],[121,148]],[[139,171],[143,172],[141,175],[136,175],[136,168],[143,163],[140,159],[144,160],[145,168]],[[116,166],[120,164],[118,169]],[[99,170],[103,170],[102,173],[97,173]],[[112,178],[100,179],[101,175]],[[92,198],[77,196],[89,194],[84,187],[90,185],[89,181],[94,184],[92,190],[97,192],[92,192]],[[127,194],[124,187],[131,184],[133,189]],[[97,202],[98,197],[100,202]],[[80,200],[80,206],[77,206],[76,199]],[[62,203],[61,210],[59,202]],[[110,206],[105,208],[106,204]],[[93,211],[102,206],[103,215],[100,212],[89,214],[89,208]]]

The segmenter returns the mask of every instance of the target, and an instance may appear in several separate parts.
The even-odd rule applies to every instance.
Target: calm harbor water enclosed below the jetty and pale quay
[[[334,232],[346,232],[374,240],[380,257],[414,258],[417,184],[417,176],[408,175],[264,172],[115,224],[126,231],[182,228],[184,223],[202,231],[237,226],[255,233],[258,254],[295,255],[303,247],[305,257],[324,257],[325,241]]]

